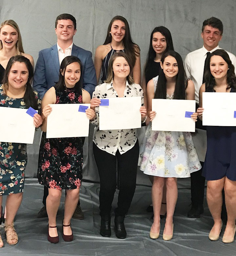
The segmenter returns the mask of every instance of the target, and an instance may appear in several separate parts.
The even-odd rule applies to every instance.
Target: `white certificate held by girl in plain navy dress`
[[[204,92],[203,125],[236,126],[236,93]]]

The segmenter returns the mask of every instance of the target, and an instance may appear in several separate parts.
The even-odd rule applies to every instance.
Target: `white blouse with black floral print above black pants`
[[[141,96],[142,106],[144,105],[143,89],[139,84],[128,84],[126,81],[126,88],[124,91],[124,97],[136,97]],[[102,83],[95,87],[92,98],[116,98],[119,97],[116,90],[111,83]],[[123,154],[130,150],[137,141],[136,129],[123,129],[123,130],[99,130],[99,107],[95,108],[96,118],[91,121],[95,124],[93,134],[93,142],[96,146],[112,155],[116,154],[117,149],[120,154]],[[143,121],[145,122],[145,120]]]

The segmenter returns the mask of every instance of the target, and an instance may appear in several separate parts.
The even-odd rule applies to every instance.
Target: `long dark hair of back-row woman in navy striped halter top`
[[[125,47],[125,52],[129,56],[129,59],[132,63],[132,66],[134,66],[135,61],[136,61],[136,56],[140,55],[140,48],[137,44],[135,44],[132,41],[128,21],[126,20],[126,18],[124,18],[122,16],[115,16],[115,17],[112,18],[112,20],[110,21],[110,23],[108,25],[107,37],[106,37],[106,40],[105,40],[104,44],[108,44],[108,43],[111,42],[112,37],[110,35],[110,30],[111,30],[111,25],[115,20],[121,20],[125,23],[126,31],[125,31],[125,36],[123,38],[123,44],[124,44],[124,47]]]

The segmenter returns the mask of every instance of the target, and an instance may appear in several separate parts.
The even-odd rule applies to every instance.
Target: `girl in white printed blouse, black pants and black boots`
[[[109,62],[108,79],[96,86],[91,100],[91,108],[96,107],[96,125],[93,135],[93,153],[100,177],[100,234],[111,236],[110,212],[116,190],[116,163],[118,163],[119,196],[118,207],[115,209],[115,233],[119,239],[126,238],[124,225],[125,215],[130,207],[135,186],[139,155],[139,144],[136,129],[100,130],[99,105],[103,98],[137,97],[141,96],[140,114],[145,121],[146,107],[144,106],[143,90],[139,84],[133,83],[132,64],[125,53],[115,53]]]

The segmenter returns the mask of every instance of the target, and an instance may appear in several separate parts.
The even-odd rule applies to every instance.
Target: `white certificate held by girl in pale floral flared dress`
[[[153,131],[195,131],[195,121],[190,115],[195,112],[196,101],[152,99]]]

